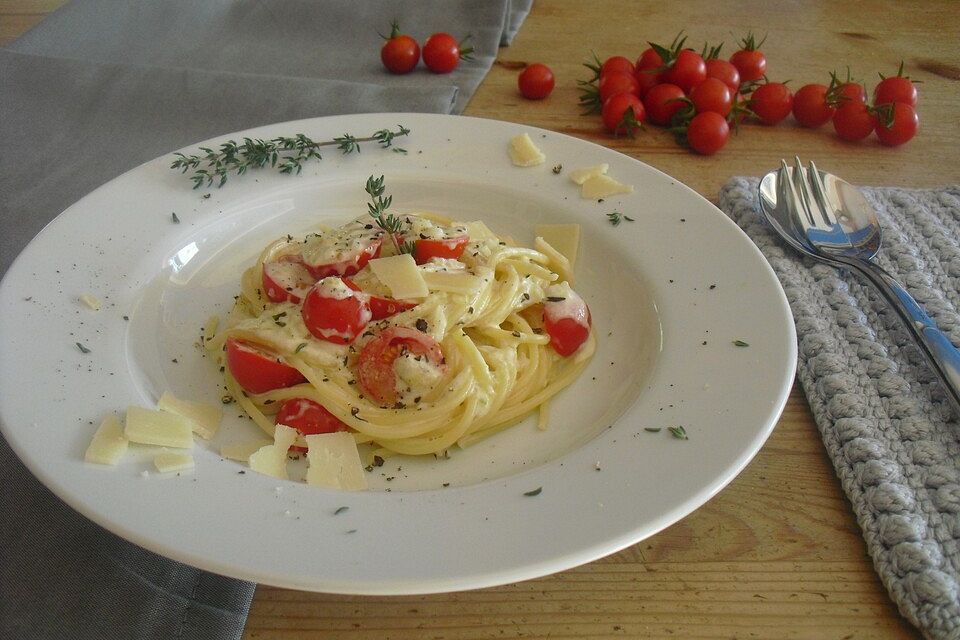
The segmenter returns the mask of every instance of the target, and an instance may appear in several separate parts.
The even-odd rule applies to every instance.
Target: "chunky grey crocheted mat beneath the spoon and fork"
[[[801,258],[758,210],[753,178],[720,206],[793,310],[797,375],[890,596],[928,638],[960,638],[960,419],[896,315],[848,272]],[[881,266],[960,344],[960,187],[863,188]]]

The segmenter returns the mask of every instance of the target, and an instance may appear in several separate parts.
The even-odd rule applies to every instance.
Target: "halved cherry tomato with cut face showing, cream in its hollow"
[[[432,337],[407,327],[388,327],[364,345],[357,359],[357,380],[364,392],[382,405],[397,400],[397,374],[393,368],[405,353],[422,356],[434,367],[444,368],[443,351]]]

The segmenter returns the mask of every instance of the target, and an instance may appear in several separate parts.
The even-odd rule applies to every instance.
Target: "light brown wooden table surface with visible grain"
[[[63,0],[0,0],[0,44]],[[933,187],[960,183],[960,4],[942,2],[631,2],[537,0],[466,114],[545,127],[651,164],[716,201],[735,175],[779,159],[814,158],[854,183]],[[665,132],[613,139],[577,106],[591,50],[636,58],[648,40],[725,42],[767,35],[768,75],[794,90],[845,72],[870,89],[903,60],[918,81],[921,129],[904,147],[841,142],[827,125],[743,126],[714,157]],[[516,90],[523,63],[548,64],[549,99]],[[804,395],[794,387],[773,435],[726,489],[665,531],[557,575],[430,596],[356,597],[261,586],[247,640],[306,638],[918,638],[873,570]]]

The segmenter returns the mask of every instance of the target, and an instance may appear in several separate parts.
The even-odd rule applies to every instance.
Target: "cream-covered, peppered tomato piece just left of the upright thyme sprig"
[[[380,256],[383,232],[359,221],[327,235],[308,239],[302,250],[303,266],[314,280],[327,276],[350,276]]]

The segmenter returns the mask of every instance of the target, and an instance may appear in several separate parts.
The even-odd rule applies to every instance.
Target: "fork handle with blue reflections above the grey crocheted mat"
[[[960,417],[960,351],[950,338],[937,326],[917,304],[907,290],[880,265],[869,261],[851,261],[870,281],[883,298],[894,308],[897,315],[913,334],[931,368],[940,378],[947,395],[953,402],[954,411]]]

